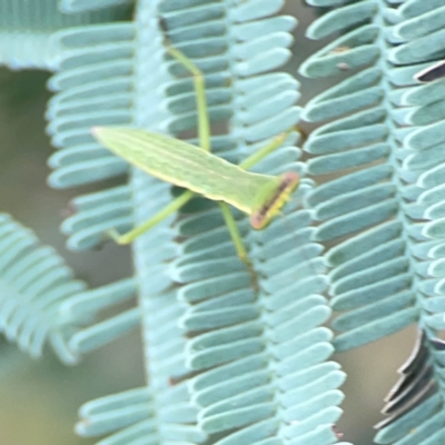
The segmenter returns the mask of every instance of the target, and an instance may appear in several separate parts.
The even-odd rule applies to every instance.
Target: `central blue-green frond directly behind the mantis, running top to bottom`
[[[298,85],[288,75],[265,73],[288,58],[293,19],[268,17],[280,2],[215,1],[172,11],[168,6],[174,3],[165,1],[160,9],[167,36],[206,73],[210,118],[228,122],[228,131],[212,138],[214,150],[239,161],[297,122]],[[200,19],[198,27],[189,22],[199,12],[204,17],[204,11],[220,29],[211,38],[206,38],[209,18]],[[219,17],[225,22],[218,28]],[[171,90],[169,131],[195,126],[194,101],[190,81],[186,90]],[[296,140],[291,135],[257,170],[304,176]],[[303,180],[301,195],[310,186]],[[310,212],[294,205],[285,219],[251,233],[238,215],[259,289],[237,258],[216,207],[196,204],[176,225],[182,241],[169,276],[182,284],[178,297],[186,312],[180,327],[190,337],[186,366],[196,374],[189,390],[199,408],[198,426],[211,443],[337,441],[332,424],[340,414],[335,405],[343,398],[337,387],[344,374],[338,365],[325,362],[332,354],[330,333],[320,325],[330,312],[319,295],[326,278],[320,246],[309,241],[310,222]]]

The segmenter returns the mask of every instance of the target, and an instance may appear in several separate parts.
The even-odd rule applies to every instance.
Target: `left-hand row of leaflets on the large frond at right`
[[[415,134],[407,127],[413,108],[404,107],[403,97],[431,57],[414,55],[409,48],[423,48],[423,34],[435,31],[426,26],[421,31],[416,22],[413,43],[398,46],[404,13],[414,3],[407,1],[399,9],[376,0],[349,3],[323,16],[308,30],[313,38],[334,31],[342,36],[306,61],[305,75],[358,69],[314,98],[304,113],[306,120],[328,120],[305,146],[315,155],[308,171],[342,174],[308,197],[322,221],[316,239],[337,241],[326,258],[333,267],[332,305],[344,312],[333,323],[343,333],[335,340],[339,350],[418,320],[429,284],[429,245],[417,222],[424,217],[415,184],[419,170],[407,164],[412,157],[406,144]],[[418,154],[417,161],[425,162],[419,159]]]

